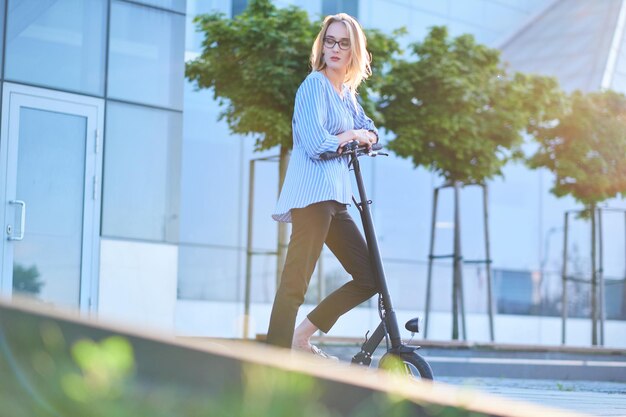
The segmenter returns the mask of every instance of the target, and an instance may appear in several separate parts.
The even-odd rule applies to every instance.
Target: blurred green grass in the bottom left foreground
[[[49,320],[24,320],[10,332],[8,337],[0,326],[0,417],[340,415],[324,403],[325,385],[308,375],[244,365],[239,378],[216,374],[231,382],[209,393],[179,386],[173,378],[140,377],[133,345],[122,336],[68,342]],[[478,415],[455,407],[423,410],[428,416]],[[414,404],[404,398],[375,393],[347,417],[408,417],[414,412]]]

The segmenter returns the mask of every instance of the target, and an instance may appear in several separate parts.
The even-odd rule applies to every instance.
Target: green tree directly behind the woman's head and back
[[[256,137],[256,150],[280,148],[279,189],[292,148],[291,119],[298,86],[310,72],[311,45],[320,29],[295,6],[278,8],[270,0],[251,0],[234,17],[213,13],[195,18],[204,33],[202,52],[187,63],[186,76],[198,89],[210,88],[222,106],[220,118],[230,131]],[[375,74],[361,89],[365,109],[380,84],[379,73],[398,44],[393,37],[368,31]],[[373,115],[376,118],[376,114]],[[279,272],[286,248],[286,227],[279,224]]]

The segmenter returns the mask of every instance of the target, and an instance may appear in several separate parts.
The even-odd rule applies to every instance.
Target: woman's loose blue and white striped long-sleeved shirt
[[[324,74],[313,71],[296,93],[293,111],[293,150],[280,197],[272,218],[291,222],[291,209],[320,201],[348,204],[352,188],[348,158],[321,160],[320,154],[336,151],[336,135],[350,129],[376,131],[347,86],[343,97]]]

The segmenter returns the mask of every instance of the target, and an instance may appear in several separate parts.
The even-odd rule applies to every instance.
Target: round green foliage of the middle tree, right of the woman
[[[379,109],[395,139],[389,147],[446,180],[477,183],[521,157],[522,133],[541,126],[561,94],[552,78],[508,76],[499,52],[471,35],[433,27],[411,44],[416,60],[396,61]]]

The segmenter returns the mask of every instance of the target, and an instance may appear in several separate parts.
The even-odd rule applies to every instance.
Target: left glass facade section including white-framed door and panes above
[[[179,240],[186,2],[0,6],[1,198],[21,234],[2,245],[3,293],[119,310],[114,292],[126,290],[107,286],[124,262],[107,252]],[[130,257],[155,255],[136,247]],[[141,281],[141,262],[129,266],[139,273],[124,278]]]

